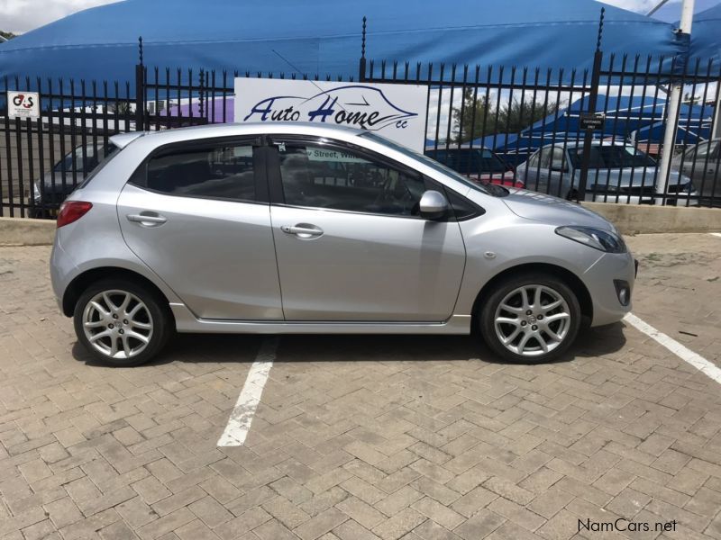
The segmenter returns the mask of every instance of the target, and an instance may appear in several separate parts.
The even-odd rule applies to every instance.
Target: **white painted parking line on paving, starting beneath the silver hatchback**
[[[276,350],[278,350],[278,338],[263,340],[217,446],[243,446],[245,443],[255,410],[260,403],[263,387],[268,381],[270,368],[273,367],[273,361],[276,359]]]

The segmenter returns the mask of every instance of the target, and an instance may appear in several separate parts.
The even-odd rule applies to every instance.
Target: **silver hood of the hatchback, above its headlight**
[[[613,224],[595,211],[552,195],[525,189],[509,189],[508,195],[501,200],[516,216],[526,220],[543,221],[557,226],[582,225],[616,232]]]

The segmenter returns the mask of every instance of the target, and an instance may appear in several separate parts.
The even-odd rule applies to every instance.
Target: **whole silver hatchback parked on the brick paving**
[[[634,258],[572,202],[472,182],[373,132],[217,125],[112,138],[50,271],[78,340],[139,365],[175,332],[470,334],[560,356],[631,309]]]

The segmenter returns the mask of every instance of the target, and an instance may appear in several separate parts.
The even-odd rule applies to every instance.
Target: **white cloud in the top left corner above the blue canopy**
[[[0,0],[0,30],[21,33],[88,7],[118,0]]]

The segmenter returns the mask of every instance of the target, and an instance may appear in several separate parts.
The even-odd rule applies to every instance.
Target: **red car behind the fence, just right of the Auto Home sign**
[[[516,179],[513,166],[488,148],[470,148],[469,145],[449,148],[426,147],[425,155],[452,168],[471,180],[490,184],[524,187],[523,182]]]

